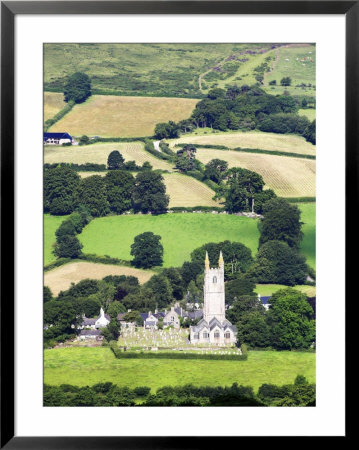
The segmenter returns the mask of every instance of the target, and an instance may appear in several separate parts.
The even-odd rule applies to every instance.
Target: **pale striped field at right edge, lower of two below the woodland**
[[[197,158],[228,161],[229,167],[243,167],[262,175],[268,188],[281,197],[315,197],[315,161],[258,153],[197,149]]]

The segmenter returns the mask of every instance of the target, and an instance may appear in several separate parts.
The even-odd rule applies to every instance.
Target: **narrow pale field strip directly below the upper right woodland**
[[[235,131],[227,133],[211,133],[200,136],[188,134],[179,139],[168,140],[168,142],[170,142],[171,147],[174,147],[176,144],[183,143],[198,146],[201,146],[201,144],[224,145],[228,148],[241,147],[271,151],[278,150],[281,152],[300,153],[303,155],[315,155],[315,145],[307,142],[301,136],[263,133],[261,131]]]

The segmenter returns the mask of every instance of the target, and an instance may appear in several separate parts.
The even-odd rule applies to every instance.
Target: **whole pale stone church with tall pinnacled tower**
[[[206,252],[203,319],[197,325],[190,327],[192,344],[225,345],[236,342],[236,327],[226,319],[222,252],[219,255],[218,266],[218,268],[210,268],[208,252]]]

